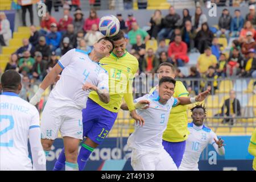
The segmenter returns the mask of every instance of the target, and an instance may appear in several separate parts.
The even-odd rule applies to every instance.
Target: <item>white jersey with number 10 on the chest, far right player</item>
[[[218,154],[224,155],[224,147],[218,148],[214,138],[218,140],[217,135],[205,125],[196,126],[188,123],[189,136],[186,140],[186,148],[181,161],[180,171],[198,171],[198,162],[204,148],[212,144]]]

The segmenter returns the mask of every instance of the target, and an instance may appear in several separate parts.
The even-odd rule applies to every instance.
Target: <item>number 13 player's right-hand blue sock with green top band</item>
[[[90,147],[84,143],[82,144],[79,152],[79,156],[77,158],[77,163],[79,164],[79,171],[84,170],[87,160],[89,159],[89,156],[93,150],[94,150],[93,147]]]

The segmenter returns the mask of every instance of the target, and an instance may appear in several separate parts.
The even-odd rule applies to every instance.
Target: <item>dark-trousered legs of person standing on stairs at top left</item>
[[[18,4],[22,7],[22,25],[26,27],[26,13],[30,13],[30,25],[34,24],[33,4],[32,1],[18,0]]]

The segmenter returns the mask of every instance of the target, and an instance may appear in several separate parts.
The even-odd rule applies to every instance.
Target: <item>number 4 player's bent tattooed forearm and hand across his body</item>
[[[101,102],[104,102],[105,104],[108,104],[110,101],[110,96],[109,96],[108,90],[106,90],[106,89],[98,88],[97,86],[90,84],[90,83],[86,83],[86,84],[82,85],[82,89],[83,90],[94,90],[95,92],[97,92],[98,97],[100,98]]]

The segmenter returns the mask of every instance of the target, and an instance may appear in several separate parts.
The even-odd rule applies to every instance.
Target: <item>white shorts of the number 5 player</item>
[[[158,151],[133,149],[131,152],[131,166],[134,171],[177,171],[174,160],[164,148]]]

